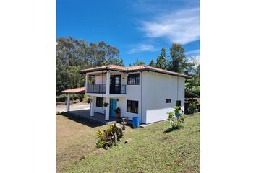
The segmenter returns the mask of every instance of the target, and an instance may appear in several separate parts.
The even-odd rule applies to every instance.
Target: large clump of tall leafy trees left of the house
[[[103,41],[90,43],[74,37],[57,38],[56,45],[56,91],[84,86],[85,76],[79,71],[85,68],[116,64],[124,66],[119,50]]]

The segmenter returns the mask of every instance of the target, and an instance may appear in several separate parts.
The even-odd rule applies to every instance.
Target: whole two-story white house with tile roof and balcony
[[[115,117],[117,107],[121,117],[139,117],[140,123],[166,120],[166,112],[179,105],[184,110],[184,83],[191,78],[150,66],[122,67],[116,65],[88,68],[85,88],[90,96],[90,116],[102,113],[105,120]],[[108,103],[103,107],[103,103]]]

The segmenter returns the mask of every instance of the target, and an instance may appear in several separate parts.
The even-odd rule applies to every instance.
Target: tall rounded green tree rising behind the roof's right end
[[[187,67],[187,58],[185,50],[181,44],[174,43],[170,48],[171,61],[169,62],[169,69],[178,73],[184,73]]]

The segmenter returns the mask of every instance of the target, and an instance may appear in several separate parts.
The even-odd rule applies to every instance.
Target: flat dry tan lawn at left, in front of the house
[[[88,156],[96,150],[95,132],[106,128],[86,120],[73,119],[57,115],[57,172],[64,172],[67,167]],[[132,129],[127,128],[128,131]]]

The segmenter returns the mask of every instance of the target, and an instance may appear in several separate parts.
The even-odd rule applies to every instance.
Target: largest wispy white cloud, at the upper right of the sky
[[[200,39],[199,10],[182,9],[143,21],[140,28],[146,37],[166,37],[171,43],[186,44]]]

